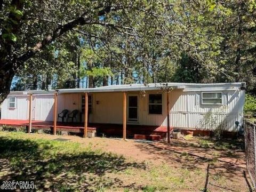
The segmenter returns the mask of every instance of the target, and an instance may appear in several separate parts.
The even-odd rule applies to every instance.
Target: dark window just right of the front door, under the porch
[[[148,113],[162,114],[162,94],[149,94]]]

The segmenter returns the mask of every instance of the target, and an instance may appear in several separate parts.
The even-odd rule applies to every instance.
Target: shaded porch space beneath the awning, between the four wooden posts
[[[151,94],[147,94],[148,97],[149,95],[152,96],[150,99],[139,97],[139,94],[138,91],[118,91],[115,93],[91,91],[89,93],[76,90],[74,93],[70,90],[57,90],[53,94],[53,102],[50,105],[52,107],[47,111],[47,118],[51,114],[52,118],[48,118],[49,120],[46,121],[44,119],[42,119],[43,121],[34,121],[34,119],[41,119],[33,113],[35,111],[34,106],[38,107],[33,99],[37,95],[29,93],[29,121],[26,122],[28,132],[43,127],[43,129],[50,129],[53,134],[56,134],[57,130],[67,130],[83,133],[83,137],[87,137],[87,132],[90,134],[94,129],[97,130],[97,135],[106,135],[107,137],[152,140],[167,138],[170,142],[169,91],[153,91]],[[148,104],[148,100],[152,100],[152,103]],[[41,106],[46,104],[41,102]],[[73,111],[79,111],[78,119],[76,119],[77,123],[70,123],[68,119],[66,119],[66,123],[58,122],[59,114],[64,110],[72,111],[72,113]],[[37,114],[40,113],[42,113],[41,107]],[[164,126],[161,126],[164,121],[166,121]],[[154,126],[151,126],[151,124]],[[90,137],[90,135],[88,136]]]

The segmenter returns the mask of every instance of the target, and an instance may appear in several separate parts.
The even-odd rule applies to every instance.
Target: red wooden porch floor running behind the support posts
[[[31,131],[33,130],[46,130],[53,133],[54,122],[52,121],[32,121]],[[13,127],[29,127],[29,120],[17,119],[0,119],[0,126],[13,126]],[[123,137],[123,125],[118,124],[96,124],[89,123],[87,125],[87,134],[89,137],[92,134],[95,136],[105,137]],[[84,134],[84,125],[82,123],[62,123],[57,122],[56,131],[65,131],[71,133]],[[173,127],[171,127],[172,131]],[[166,126],[146,126],[146,125],[127,125],[126,137],[130,139],[150,139],[161,140],[166,137]]]

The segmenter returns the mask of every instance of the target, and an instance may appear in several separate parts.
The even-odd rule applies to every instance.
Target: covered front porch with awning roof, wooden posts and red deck
[[[92,89],[66,89],[51,92],[27,91],[27,120],[2,119],[0,125],[135,139],[166,139],[170,142],[170,92],[179,86],[122,85]],[[75,121],[63,122],[63,110],[79,111]],[[21,112],[20,112],[21,113]],[[19,115],[18,115],[19,116]],[[24,118],[23,118],[24,119]],[[37,121],[41,120],[41,121]],[[58,122],[61,121],[61,122]]]

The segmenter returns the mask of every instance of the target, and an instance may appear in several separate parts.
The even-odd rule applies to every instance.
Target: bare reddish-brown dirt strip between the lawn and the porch
[[[161,166],[166,163],[173,170],[200,169],[204,172],[204,179],[199,181],[201,191],[204,191],[205,188],[207,188],[206,191],[252,191],[250,178],[245,169],[245,154],[241,150],[198,147],[195,145],[198,143],[197,140],[172,140],[170,145],[165,145],[152,141],[81,138],[71,135],[27,134],[27,137],[50,140],[67,139],[71,142],[81,143],[83,146],[90,146],[93,150],[100,149],[104,152],[123,155],[131,161],[146,162],[150,166]],[[196,175],[192,175],[192,177],[196,177]],[[127,179],[127,183],[129,180],[136,182],[137,179]],[[195,191],[198,181],[194,182],[194,180],[196,178],[191,178],[191,185],[189,184],[191,190],[184,191]]]

